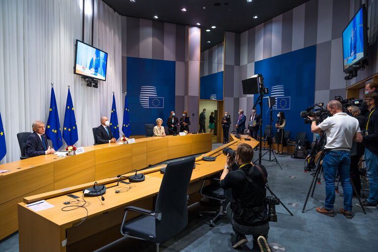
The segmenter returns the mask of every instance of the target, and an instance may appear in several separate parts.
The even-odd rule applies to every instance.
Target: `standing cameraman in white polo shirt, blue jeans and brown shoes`
[[[325,180],[325,206],[317,207],[316,212],[335,217],[333,204],[335,202],[335,179],[339,171],[341,184],[344,191],[344,208],[340,213],[346,218],[352,216],[352,186],[350,184],[350,148],[352,140],[362,141],[361,130],[358,120],[342,112],[340,101],[331,100],[327,104],[327,110],[331,117],[328,117],[318,126],[315,117],[309,117],[312,121],[311,132],[319,133],[324,130],[327,136],[327,143],[324,147],[323,176]]]

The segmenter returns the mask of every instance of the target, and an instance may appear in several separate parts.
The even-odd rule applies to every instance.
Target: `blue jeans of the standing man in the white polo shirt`
[[[335,179],[339,171],[344,192],[344,210],[352,211],[352,185],[349,176],[350,152],[330,151],[324,155],[323,171],[325,180],[325,208],[333,210],[335,203]]]

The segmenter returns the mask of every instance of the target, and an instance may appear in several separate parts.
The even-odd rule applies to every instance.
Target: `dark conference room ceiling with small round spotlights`
[[[123,16],[198,26],[201,51],[223,41],[223,32],[245,32],[309,0],[102,0]],[[187,11],[182,11],[186,8]],[[158,19],[154,19],[158,16]],[[253,18],[257,16],[257,18]],[[212,26],[216,26],[212,29]],[[205,32],[209,29],[210,32]],[[207,41],[211,41],[208,43]]]

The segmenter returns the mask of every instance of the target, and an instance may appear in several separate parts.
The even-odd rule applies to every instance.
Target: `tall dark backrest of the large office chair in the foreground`
[[[180,233],[188,223],[188,188],[194,166],[194,156],[168,163],[161,181],[155,211],[156,239],[162,244]]]

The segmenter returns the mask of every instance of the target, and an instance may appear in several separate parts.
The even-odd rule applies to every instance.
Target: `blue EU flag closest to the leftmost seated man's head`
[[[55,150],[59,150],[62,147],[62,132],[61,123],[59,122],[58,106],[55,100],[54,88],[51,88],[51,98],[50,98],[50,108],[49,108],[49,118],[46,124],[46,136],[53,142]]]

